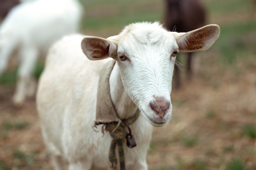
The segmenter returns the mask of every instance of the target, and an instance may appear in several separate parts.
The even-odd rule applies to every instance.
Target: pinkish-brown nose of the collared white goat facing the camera
[[[166,101],[164,97],[155,97],[155,100],[150,102],[150,108],[161,118],[164,117],[169,107],[170,102]]]

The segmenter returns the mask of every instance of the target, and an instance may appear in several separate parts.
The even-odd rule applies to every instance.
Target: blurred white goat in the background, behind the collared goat
[[[34,95],[33,71],[39,53],[63,35],[76,33],[82,14],[77,0],[27,0],[14,7],[0,27],[0,75],[8,60],[19,49],[20,67],[13,102],[21,105],[27,95]]]

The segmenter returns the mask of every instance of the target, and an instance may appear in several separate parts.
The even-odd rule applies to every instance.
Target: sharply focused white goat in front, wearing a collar
[[[109,88],[117,114],[126,119],[139,108],[143,115],[130,126],[137,146],[124,146],[126,169],[147,170],[152,127],[163,126],[171,117],[171,83],[177,52],[206,50],[219,33],[218,25],[176,33],[166,31],[158,22],[142,22],[130,24],[119,35],[107,39],[71,35],[54,44],[36,97],[54,170],[62,169],[61,157],[69,162],[69,170],[109,166],[112,138],[109,133],[102,135],[92,128],[99,74],[109,60],[116,61]],[[112,59],[102,60],[109,57]]]

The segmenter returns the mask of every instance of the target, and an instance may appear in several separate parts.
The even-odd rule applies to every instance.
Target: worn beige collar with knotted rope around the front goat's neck
[[[126,140],[126,144],[129,148],[136,146],[135,140],[132,137],[130,125],[134,123],[140,114],[139,109],[136,113],[128,119],[120,119],[115,106],[112,103],[110,97],[109,77],[113,67],[115,66],[115,60],[107,62],[100,74],[99,85],[97,91],[97,108],[96,108],[96,120],[94,127],[103,124],[102,132],[104,130],[110,132],[112,142],[109,150],[110,167],[116,168],[117,157],[115,154],[115,148],[117,147],[119,153],[120,170],[125,170],[125,158],[123,143]],[[127,130],[128,129],[128,130]]]

